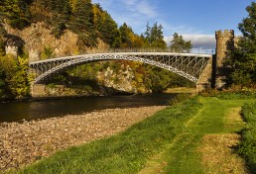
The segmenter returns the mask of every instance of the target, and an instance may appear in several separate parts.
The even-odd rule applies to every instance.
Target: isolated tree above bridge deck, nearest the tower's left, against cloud
[[[175,52],[190,52],[192,49],[192,42],[186,42],[183,36],[179,36],[177,33],[173,35],[170,48]]]

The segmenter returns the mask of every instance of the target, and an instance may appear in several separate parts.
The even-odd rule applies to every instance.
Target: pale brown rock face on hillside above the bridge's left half
[[[45,48],[51,47],[55,56],[75,55],[79,53],[78,37],[71,31],[65,30],[64,35],[57,39],[52,35],[52,30],[43,22],[34,23],[24,30],[14,30],[7,24],[4,25],[8,35],[17,36],[24,42],[25,49],[29,51],[31,61],[39,59]],[[107,44],[98,40],[97,48],[106,48]],[[88,47],[85,47],[88,48]],[[88,48],[89,49],[89,48]]]

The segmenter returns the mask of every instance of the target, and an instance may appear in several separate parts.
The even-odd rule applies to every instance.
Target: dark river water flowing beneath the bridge
[[[168,105],[168,101],[175,96],[176,94],[152,94],[0,103],[0,123],[79,115],[104,109],[163,106]]]

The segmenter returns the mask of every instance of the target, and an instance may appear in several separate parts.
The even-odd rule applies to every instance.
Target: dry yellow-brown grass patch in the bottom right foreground
[[[206,134],[202,137],[200,152],[205,173],[248,173],[244,160],[235,153],[240,140],[236,133]]]

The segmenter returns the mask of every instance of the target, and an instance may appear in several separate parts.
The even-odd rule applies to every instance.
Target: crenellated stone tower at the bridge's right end
[[[215,63],[215,88],[221,89],[225,86],[225,75],[227,68],[223,65],[223,60],[228,58],[230,51],[234,49],[234,31],[216,31],[216,63]]]

